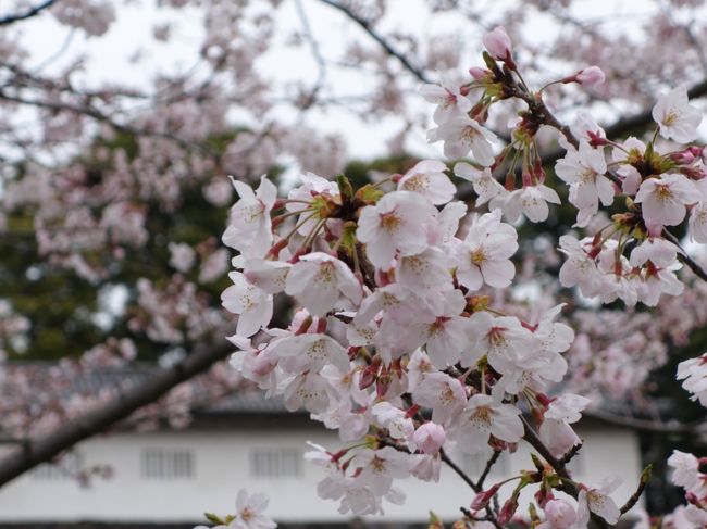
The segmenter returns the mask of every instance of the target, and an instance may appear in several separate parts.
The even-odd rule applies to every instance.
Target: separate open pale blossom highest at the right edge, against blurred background
[[[687,101],[687,89],[678,87],[658,98],[653,108],[653,118],[660,125],[660,136],[687,143],[697,138],[697,126],[702,122],[699,109]]]

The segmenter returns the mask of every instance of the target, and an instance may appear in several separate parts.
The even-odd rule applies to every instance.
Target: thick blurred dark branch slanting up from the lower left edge
[[[13,451],[0,459],[0,486],[53,459],[74,444],[104,431],[136,410],[157,401],[175,386],[224,360],[231,351],[232,348],[226,343],[197,349],[178,364],[119,394],[100,408],[61,426],[50,434],[27,441],[23,450]]]

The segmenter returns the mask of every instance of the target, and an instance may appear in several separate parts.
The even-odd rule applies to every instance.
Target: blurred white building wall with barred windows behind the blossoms
[[[585,448],[574,463],[575,477],[598,484],[607,476],[624,483],[615,497],[623,502],[635,490],[641,473],[637,439],[630,430],[600,426],[580,430]],[[228,429],[193,429],[149,433],[126,432],[82,443],[77,461],[64,465],[110,465],[113,477],[82,487],[58,475],[55,468],[38,468],[0,489],[2,522],[120,522],[202,521],[203,512],[234,511],[236,492],[266,492],[269,514],[277,521],[343,521],[337,503],[320,500],[317,482],[321,469],[301,458],[306,441],[327,448],[342,445],[332,432],[306,424],[283,428],[273,417],[256,426],[240,424]],[[483,462],[457,458],[471,476]],[[591,462],[591,463],[590,463]],[[528,449],[504,457],[487,483],[532,468]],[[386,519],[424,521],[430,509],[455,519],[459,506],[469,506],[472,491],[449,469],[441,483],[414,478],[399,481],[408,500],[404,506],[387,504]],[[512,484],[507,490],[510,493]],[[525,495],[530,499],[530,494]],[[344,517],[344,519],[350,516]]]

